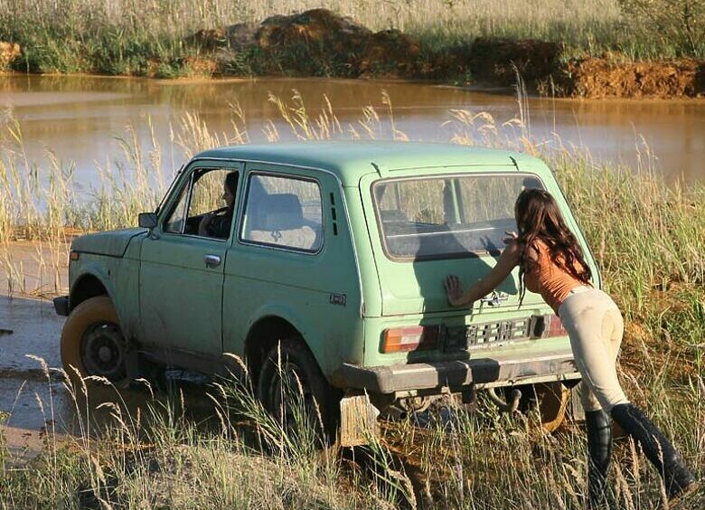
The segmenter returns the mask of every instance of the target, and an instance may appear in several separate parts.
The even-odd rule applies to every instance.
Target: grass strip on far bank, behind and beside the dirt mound
[[[431,52],[466,45],[475,37],[506,37],[559,42],[566,45],[567,57],[606,51],[624,52],[634,59],[701,58],[705,54],[705,40],[697,31],[705,15],[701,9],[691,14],[692,19],[686,16],[690,24],[681,31],[675,25],[674,31],[673,23],[668,24],[669,30],[659,30],[648,13],[633,9],[625,15],[620,4],[624,2],[0,0],[0,41],[18,42],[24,48],[23,59],[15,63],[18,70],[171,78],[202,72],[190,60],[198,49],[184,44],[184,36],[227,24],[258,23],[273,14],[326,7],[375,31],[397,28],[408,32]],[[647,4],[660,13],[661,4],[678,11],[688,2]],[[627,3],[628,8],[632,5]],[[688,26],[698,36],[683,43],[678,34]],[[250,62],[249,57],[247,52],[237,55],[233,66],[251,71],[256,59]]]

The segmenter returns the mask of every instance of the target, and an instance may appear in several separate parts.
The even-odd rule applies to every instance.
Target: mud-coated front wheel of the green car
[[[71,380],[97,375],[124,382],[126,355],[127,342],[108,296],[90,297],[71,311],[61,332],[61,363]]]

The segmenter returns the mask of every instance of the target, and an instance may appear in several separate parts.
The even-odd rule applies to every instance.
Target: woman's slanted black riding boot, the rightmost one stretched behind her
[[[638,407],[633,403],[616,405],[612,418],[642,446],[646,458],[661,473],[669,499],[692,488],[695,477],[681,455]]]

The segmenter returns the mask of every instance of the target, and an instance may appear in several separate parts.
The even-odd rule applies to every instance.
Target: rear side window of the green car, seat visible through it
[[[315,252],[323,246],[318,183],[282,175],[249,175],[240,240]]]

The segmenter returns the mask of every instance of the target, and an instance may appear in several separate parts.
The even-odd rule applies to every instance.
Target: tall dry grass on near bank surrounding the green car
[[[327,99],[316,117],[296,94],[270,100],[301,139],[408,138],[391,108],[364,109],[358,123],[341,126]],[[384,103],[390,105],[390,99]],[[206,147],[247,142],[237,103],[232,112],[233,130],[218,136],[197,116],[185,116],[174,127],[172,143],[191,156]],[[522,118],[512,125],[522,133],[518,142],[504,138],[486,113],[456,110],[446,127],[453,133],[449,141],[520,149],[553,168],[595,252],[606,290],[625,312],[626,392],[674,439],[697,475],[705,476],[700,426],[705,423],[705,187],[664,184],[644,147],[638,168],[620,167],[593,161],[558,138],[536,140]],[[271,126],[268,138],[276,141],[280,134]],[[122,169],[100,169],[101,184],[89,194],[77,191],[71,165],[61,165],[51,153],[41,162],[24,158],[21,123],[8,122],[0,140],[5,149],[0,153],[0,263],[7,278],[21,273],[11,241],[41,240],[55,247],[56,260],[63,263],[72,231],[135,225],[137,213],[157,202],[169,180],[161,162],[168,147],[154,138],[141,146],[134,129],[121,140]],[[55,377],[48,381],[60,384]],[[54,442],[49,434],[42,454],[20,464],[0,439],[0,507],[61,502],[66,508],[504,508],[508,503],[578,508],[585,496],[584,432],[568,427],[546,436],[533,415],[509,420],[492,407],[467,413],[451,403],[451,411],[441,413],[445,420],[422,427],[412,419],[394,423],[369,449],[325,456],[315,453],[311,434],[289,437],[278,430],[247,386],[225,394],[211,389],[214,418],[206,424],[183,414],[179,395],[157,396],[154,412],[141,415],[118,405],[110,409],[116,418],[100,439],[87,429],[93,411],[80,403],[85,390],[71,391],[83,423],[77,439]],[[51,392],[48,387],[39,395],[47,416]],[[617,507],[663,504],[658,475],[630,443],[618,444],[611,486]],[[705,489],[700,489],[684,507],[703,503]]]

